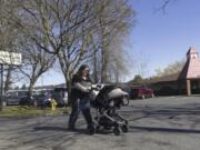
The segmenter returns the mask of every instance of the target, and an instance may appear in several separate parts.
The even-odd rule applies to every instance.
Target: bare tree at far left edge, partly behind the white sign
[[[8,12],[13,9],[11,2],[12,1],[9,0],[0,1],[0,50],[16,52],[18,47],[17,38],[19,36],[19,30],[14,29],[13,24],[9,22],[10,16]],[[4,92],[11,88],[13,74],[16,74],[13,70],[14,67],[4,64]]]

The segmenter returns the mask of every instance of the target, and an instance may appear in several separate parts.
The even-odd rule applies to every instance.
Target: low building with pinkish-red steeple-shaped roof
[[[182,71],[146,80],[146,84],[156,94],[200,94],[200,58],[193,47],[187,52],[187,61]]]

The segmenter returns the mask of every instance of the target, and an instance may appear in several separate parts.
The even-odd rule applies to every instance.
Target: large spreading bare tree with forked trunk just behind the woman
[[[18,2],[18,1],[16,1]],[[66,82],[88,58],[90,33],[100,2],[96,0],[22,0],[12,11],[12,23],[40,50],[59,58]],[[90,33],[89,33],[90,32]]]

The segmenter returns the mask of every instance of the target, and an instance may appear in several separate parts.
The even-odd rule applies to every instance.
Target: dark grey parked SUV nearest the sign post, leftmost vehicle
[[[3,106],[18,106],[21,99],[27,98],[28,90],[9,90],[3,98]]]

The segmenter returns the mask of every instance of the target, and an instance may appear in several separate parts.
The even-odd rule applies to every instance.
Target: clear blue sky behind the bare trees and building
[[[139,73],[139,66],[146,63],[144,77],[154,74],[157,68],[163,69],[169,63],[186,58],[190,47],[200,52],[200,0],[177,0],[162,11],[164,0],[131,0],[137,12],[126,51],[129,54],[130,80]],[[57,84],[64,82],[61,72],[47,72],[37,84]]]

